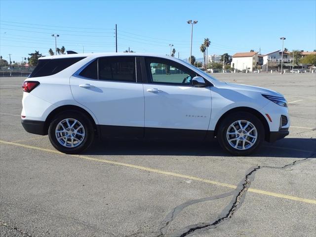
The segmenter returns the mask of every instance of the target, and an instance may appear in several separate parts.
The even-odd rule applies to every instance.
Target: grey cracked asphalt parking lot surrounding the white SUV
[[[24,78],[0,78],[0,236],[315,236],[316,74],[213,76],[281,92],[290,135],[250,157],[216,140],[63,155],[22,128]]]

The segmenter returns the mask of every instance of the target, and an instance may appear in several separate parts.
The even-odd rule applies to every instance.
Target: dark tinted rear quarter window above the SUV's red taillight
[[[85,57],[41,59],[38,66],[33,70],[30,78],[46,77],[63,71]]]

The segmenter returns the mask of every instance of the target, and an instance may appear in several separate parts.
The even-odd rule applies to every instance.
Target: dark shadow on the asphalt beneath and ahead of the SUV
[[[316,139],[284,138],[265,142],[250,157],[316,158]],[[140,156],[212,156],[232,157],[224,152],[216,139],[211,142],[161,140],[103,140],[84,152],[86,155]]]

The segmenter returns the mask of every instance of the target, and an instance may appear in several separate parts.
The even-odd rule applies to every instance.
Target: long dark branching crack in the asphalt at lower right
[[[293,162],[283,165],[283,166],[268,166],[268,165],[258,165],[256,167],[252,167],[248,170],[248,172],[245,175],[245,178],[239,182],[237,185],[237,188],[234,191],[224,193],[217,196],[212,197],[204,197],[199,199],[194,199],[190,201],[186,201],[175,208],[171,212],[167,214],[167,216],[164,218],[164,220],[161,222],[161,224],[158,227],[158,231],[160,232],[160,235],[158,237],[162,237],[166,235],[167,227],[168,225],[176,218],[176,216],[186,207],[196,204],[198,202],[203,201],[209,201],[209,200],[216,200],[224,197],[229,197],[234,195],[231,202],[224,208],[224,210],[221,212],[218,219],[213,220],[208,223],[197,223],[195,225],[186,226],[182,229],[176,230],[175,232],[167,235],[168,237],[185,237],[193,232],[201,232],[209,229],[215,229],[217,226],[223,224],[224,222],[228,221],[234,213],[237,211],[237,209],[241,206],[245,199],[245,194],[248,190],[248,188],[251,185],[251,182],[254,180],[255,172],[261,168],[273,168],[273,169],[285,169],[290,166],[294,166],[298,163],[302,163],[304,161],[307,161],[309,158],[312,158],[316,155],[316,153],[311,154],[309,157],[299,160],[294,160]]]

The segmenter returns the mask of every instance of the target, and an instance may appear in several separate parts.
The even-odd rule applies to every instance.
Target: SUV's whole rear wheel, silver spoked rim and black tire
[[[51,144],[60,152],[78,154],[88,149],[93,142],[94,128],[83,114],[68,111],[57,115],[48,128]]]

